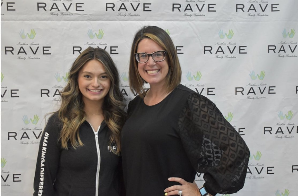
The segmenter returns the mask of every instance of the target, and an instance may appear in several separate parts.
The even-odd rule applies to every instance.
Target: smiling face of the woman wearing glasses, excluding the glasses
[[[142,39],[138,44],[137,53],[145,52],[151,54],[156,51],[164,50],[155,41],[149,38]],[[138,63],[138,71],[140,76],[152,85],[163,86],[166,82],[166,76],[169,72],[169,65],[167,57],[161,62],[153,60],[152,56],[149,57],[146,63]]]

